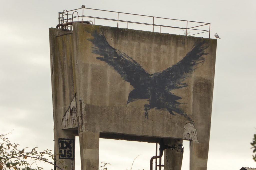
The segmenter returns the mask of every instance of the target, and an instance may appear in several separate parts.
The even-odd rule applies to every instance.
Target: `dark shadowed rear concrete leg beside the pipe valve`
[[[178,146],[182,144],[183,140],[178,139],[169,139],[165,141],[165,144],[168,146]],[[178,147],[175,150],[165,149],[164,150],[164,169],[165,170],[180,170],[182,165],[183,152],[182,146]]]

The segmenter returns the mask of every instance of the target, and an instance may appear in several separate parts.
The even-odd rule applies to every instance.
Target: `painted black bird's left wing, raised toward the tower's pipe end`
[[[134,88],[140,88],[141,85],[146,83],[145,79],[148,79],[150,74],[139,63],[125,53],[113,48],[103,34],[99,34],[97,31],[89,33],[94,37],[89,39],[94,45],[92,52],[102,56],[97,57],[97,59],[112,66]]]

